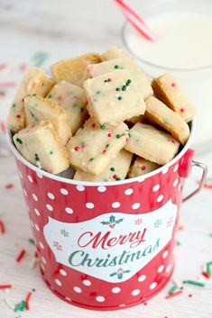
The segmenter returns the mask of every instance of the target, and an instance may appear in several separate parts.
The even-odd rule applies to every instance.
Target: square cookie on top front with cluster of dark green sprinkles
[[[127,69],[88,79],[84,83],[88,113],[97,123],[117,124],[144,114],[146,105]]]

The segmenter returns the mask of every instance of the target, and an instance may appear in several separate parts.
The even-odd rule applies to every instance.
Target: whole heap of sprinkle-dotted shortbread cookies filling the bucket
[[[146,75],[115,47],[29,68],[7,125],[25,159],[51,174],[118,181],[167,164],[189,139],[195,108],[171,74]]]

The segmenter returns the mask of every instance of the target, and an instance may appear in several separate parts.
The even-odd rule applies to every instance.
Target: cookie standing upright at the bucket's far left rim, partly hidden
[[[52,79],[48,78],[41,68],[29,68],[26,71],[7,117],[7,125],[11,132],[18,132],[25,127],[23,99],[30,94],[45,97],[53,84]]]

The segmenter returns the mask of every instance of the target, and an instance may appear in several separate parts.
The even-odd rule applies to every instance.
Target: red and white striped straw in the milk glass
[[[141,16],[134,11],[131,5],[129,5],[125,0],[115,0],[115,3],[120,7],[126,19],[133,25],[137,32],[142,34],[146,40],[156,40],[155,34],[144,23]]]

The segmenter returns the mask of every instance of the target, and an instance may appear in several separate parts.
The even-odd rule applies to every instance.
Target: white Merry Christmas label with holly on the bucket
[[[171,241],[177,205],[147,214],[107,213],[80,223],[49,217],[44,236],[56,260],[106,282],[123,282]]]

